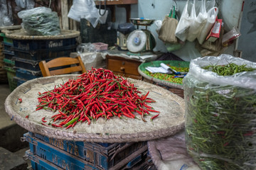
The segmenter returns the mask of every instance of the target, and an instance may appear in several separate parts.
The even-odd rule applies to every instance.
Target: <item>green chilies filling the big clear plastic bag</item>
[[[255,69],[245,65],[204,67],[222,76]],[[186,145],[201,169],[252,170],[256,165],[256,91],[183,81],[186,98]]]

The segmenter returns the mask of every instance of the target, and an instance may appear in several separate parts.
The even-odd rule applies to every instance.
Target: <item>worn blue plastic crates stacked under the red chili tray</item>
[[[27,132],[26,157],[36,169],[147,169],[147,142],[98,143],[57,140]]]

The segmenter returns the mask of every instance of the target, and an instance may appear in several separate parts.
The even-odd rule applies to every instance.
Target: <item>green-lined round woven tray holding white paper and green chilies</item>
[[[146,67],[160,67],[160,64],[164,63],[164,64],[170,64],[171,66],[175,66],[175,67],[189,67],[189,62],[183,62],[183,61],[176,61],[176,60],[157,60],[157,61],[152,61],[152,62],[144,62],[142,64],[139,65],[138,67],[138,72],[139,74],[142,75],[142,77],[144,77],[146,79],[146,81],[155,84],[157,86],[161,86],[164,89],[167,89],[169,91],[171,91],[172,93],[181,96],[181,98],[184,97],[183,95],[183,84],[176,84],[170,81],[166,81],[163,79],[156,79],[154,77],[151,77],[147,74],[144,73],[144,71],[146,71]]]

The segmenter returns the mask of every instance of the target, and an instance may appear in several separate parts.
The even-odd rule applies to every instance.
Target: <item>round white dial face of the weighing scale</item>
[[[127,38],[127,48],[130,52],[141,52],[146,45],[146,33],[142,30],[134,30]]]

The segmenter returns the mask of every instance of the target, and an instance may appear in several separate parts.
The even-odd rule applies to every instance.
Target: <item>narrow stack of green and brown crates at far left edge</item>
[[[6,72],[7,75],[7,80],[9,83],[9,88],[10,91],[13,91],[16,86],[17,83],[14,80],[14,77],[16,76],[16,71],[14,69],[14,51],[11,50],[11,47],[13,47],[13,40],[11,38],[6,38],[4,33],[0,33],[1,38],[3,39],[3,41],[1,42],[2,45],[2,54],[0,56],[4,56],[3,57],[3,62],[4,62],[4,71]],[[0,57],[1,60],[1,57]]]

